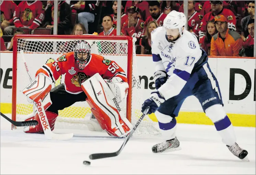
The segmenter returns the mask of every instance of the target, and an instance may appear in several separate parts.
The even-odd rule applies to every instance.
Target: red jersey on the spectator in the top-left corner
[[[1,10],[1,23],[4,20],[9,21],[13,24],[13,13],[17,5],[13,1],[0,1],[0,10]]]

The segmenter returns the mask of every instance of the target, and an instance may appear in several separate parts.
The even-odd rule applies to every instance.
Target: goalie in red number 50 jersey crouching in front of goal
[[[52,88],[60,75],[65,75],[64,84]],[[60,56],[55,62],[43,65],[35,79],[23,90],[33,100],[34,113],[26,119],[37,120],[38,125],[24,128],[25,133],[43,133],[35,104],[41,99],[48,118],[49,127],[54,129],[58,110],[75,102],[87,101],[100,127],[111,136],[124,137],[130,133],[132,124],[127,120],[119,104],[127,96],[127,77],[115,62],[91,53],[87,41],[79,40],[73,52]],[[38,108],[39,110],[39,108]]]

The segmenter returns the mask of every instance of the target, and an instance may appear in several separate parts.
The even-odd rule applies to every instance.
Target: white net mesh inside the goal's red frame
[[[141,116],[141,105],[142,105],[142,93],[141,84],[138,76],[136,60],[135,60],[135,41],[133,38],[133,49],[131,49],[132,59],[128,59],[128,41],[127,40],[111,40],[111,38],[105,37],[104,40],[97,40],[97,36],[93,39],[84,39],[91,45],[91,53],[96,53],[102,55],[106,59],[113,60],[118,63],[126,72],[126,74],[131,74],[132,83],[129,87],[132,88],[131,93],[131,116],[132,124],[134,124],[138,118]],[[36,71],[45,63],[53,62],[60,55],[67,52],[73,51],[73,46],[75,41],[79,39],[34,39],[33,36],[26,39],[18,39],[17,44],[17,86],[16,86],[16,120],[21,121],[27,118],[29,114],[33,112],[33,105],[27,98],[22,94],[22,90],[26,87],[30,81],[27,78],[27,73],[24,67],[23,60],[21,58],[20,51],[23,50],[23,55],[26,59],[27,66],[30,70],[32,77],[34,77]],[[15,43],[14,43],[15,44]],[[130,61],[130,62],[129,62]],[[132,65],[132,72],[130,72],[127,67]],[[62,75],[55,82],[55,86],[64,83],[64,76]],[[121,106],[123,111],[127,109],[126,100],[123,100]],[[91,115],[90,107],[87,102],[76,102],[64,110],[59,110],[59,116],[57,117],[57,122],[65,122],[65,127],[74,125],[77,123],[87,123],[89,116]],[[127,117],[127,116],[126,116]],[[67,125],[67,123],[68,125]],[[140,127],[137,129],[136,134],[145,135],[158,135],[158,130],[153,126],[153,122],[147,116],[141,123]],[[63,125],[64,126],[64,125]]]

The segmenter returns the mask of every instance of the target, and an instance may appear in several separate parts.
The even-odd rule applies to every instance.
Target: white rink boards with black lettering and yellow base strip
[[[43,54],[41,56],[43,57]],[[143,89],[142,97],[147,99],[155,89],[152,56],[137,55],[136,61]],[[38,61],[36,64],[40,67],[43,63]],[[209,65],[219,81],[224,108],[233,125],[255,127],[255,59],[209,58]],[[11,113],[12,52],[1,52],[0,67],[1,112]],[[154,114],[150,118],[157,121]],[[203,113],[199,101],[193,96],[188,97],[182,104],[177,121],[189,124],[213,124]]]

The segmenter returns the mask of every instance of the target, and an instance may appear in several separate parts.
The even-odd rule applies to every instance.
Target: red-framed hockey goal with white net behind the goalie
[[[126,101],[124,100],[120,105],[125,111],[126,118],[132,124],[137,122],[142,114],[143,99],[135,57],[136,38],[97,35],[76,35],[75,37],[72,35],[16,35],[13,40],[12,120],[21,121],[34,115],[32,113],[33,103],[22,94],[22,90],[30,81],[21,54],[26,59],[26,66],[34,77],[36,71],[45,63],[53,62],[64,53],[73,52],[77,40],[87,41],[91,45],[91,53],[102,55],[107,59],[102,64],[109,65],[109,59],[124,69],[129,89]],[[62,75],[56,80],[55,86],[64,83],[64,76]],[[86,120],[88,121],[90,114],[91,111],[86,102],[76,102],[64,110],[59,110],[56,122],[67,122],[68,125],[82,124],[86,123]],[[154,127],[155,124],[147,116],[135,134],[160,135],[160,132]],[[16,129],[16,127],[12,125],[12,129]]]

